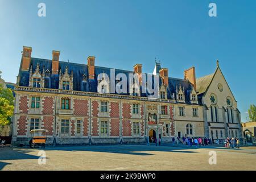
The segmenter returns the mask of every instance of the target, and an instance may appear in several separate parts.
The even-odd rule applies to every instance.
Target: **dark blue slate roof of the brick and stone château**
[[[52,88],[52,89],[59,89],[59,75],[52,75],[52,60],[46,60],[46,59],[38,59],[31,57],[31,65],[32,65],[32,71],[34,72],[36,69],[36,65],[39,64],[40,72],[47,71],[47,69],[50,72],[50,75],[48,77],[45,77],[44,87],[45,88]],[[100,73],[106,73],[110,77],[110,69],[106,67],[98,67],[95,66],[95,76],[94,79],[87,79],[87,81],[82,81],[82,76],[85,75],[87,78],[88,76],[88,66],[86,64],[77,64],[77,63],[68,63],[64,61],[59,62],[59,68],[61,69],[61,72],[64,73],[65,68],[68,68],[68,73],[71,74],[73,72],[73,90],[82,91],[82,92],[97,92],[97,76]],[[160,65],[157,65],[160,69]],[[159,72],[159,70],[158,70]],[[123,73],[127,76],[127,80],[129,79],[129,73],[134,73],[133,71],[126,71],[122,69],[115,69],[115,76],[118,73]],[[22,71],[20,69],[19,76],[20,76],[20,86],[28,86],[29,84],[29,71]],[[147,73],[146,73],[146,79],[147,79]],[[186,104],[190,104],[189,102],[189,94],[192,90],[192,85],[189,81],[180,79],[180,78],[172,78],[169,77],[168,81],[169,85],[167,88],[167,98],[171,99],[171,96],[173,93],[175,93],[175,99],[176,99],[176,86],[179,89],[179,85],[181,84],[181,88],[184,87],[185,90],[185,102]],[[162,80],[159,77],[159,86],[162,85]],[[154,88],[154,75],[152,75],[152,87]],[[129,92],[129,83],[127,82],[127,92]],[[125,93],[123,93],[125,94]],[[125,94],[128,95],[128,94]],[[141,97],[148,97],[148,93],[141,94]],[[201,100],[199,100],[199,104],[201,105]]]

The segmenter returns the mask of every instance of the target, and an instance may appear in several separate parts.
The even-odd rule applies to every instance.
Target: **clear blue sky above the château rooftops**
[[[38,4],[46,4],[46,17]],[[208,15],[209,3],[217,17]],[[0,0],[0,70],[16,82],[22,46],[32,57],[133,70],[143,64],[152,73],[155,57],[170,77],[196,67],[196,77],[209,75],[216,60],[246,121],[256,104],[256,1],[207,0]]]

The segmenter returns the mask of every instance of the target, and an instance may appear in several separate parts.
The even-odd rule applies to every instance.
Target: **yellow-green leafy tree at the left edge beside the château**
[[[0,84],[0,125],[7,125],[14,112],[14,97],[11,89],[4,89]]]

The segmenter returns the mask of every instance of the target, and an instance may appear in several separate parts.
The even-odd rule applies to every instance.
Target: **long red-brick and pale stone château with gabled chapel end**
[[[169,142],[173,137],[241,138],[240,111],[217,63],[209,76],[196,78],[195,68],[184,71],[184,79],[172,78],[156,62],[153,78],[157,98],[150,98],[143,82],[150,84],[142,64],[133,71],[98,67],[89,56],[86,64],[31,57],[23,47],[15,87],[13,142],[28,142],[32,129],[46,129],[47,143],[135,143],[149,137]],[[133,82],[120,86],[130,92],[112,90],[112,77],[119,73]],[[143,74],[146,75],[143,77]],[[138,84],[135,84],[137,82]]]

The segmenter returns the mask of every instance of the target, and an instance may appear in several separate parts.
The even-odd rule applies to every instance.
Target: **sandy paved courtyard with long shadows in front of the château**
[[[65,146],[40,149],[0,147],[0,170],[256,170],[256,147]],[[217,164],[210,165],[209,151]]]

